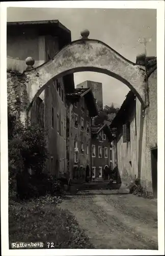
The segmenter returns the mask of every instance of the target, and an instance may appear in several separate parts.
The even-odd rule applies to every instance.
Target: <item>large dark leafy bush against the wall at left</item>
[[[22,125],[8,109],[9,190],[17,189],[20,197],[29,198],[39,192],[30,181],[29,169],[37,175],[42,173],[48,155],[45,135],[37,124]]]

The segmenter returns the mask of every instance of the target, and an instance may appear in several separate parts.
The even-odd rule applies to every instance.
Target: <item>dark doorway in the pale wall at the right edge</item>
[[[151,172],[153,196],[157,198],[157,147],[151,149]]]

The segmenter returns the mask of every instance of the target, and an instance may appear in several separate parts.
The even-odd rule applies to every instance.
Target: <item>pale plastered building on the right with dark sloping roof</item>
[[[113,151],[117,152],[122,182],[138,179],[143,188],[157,197],[157,70],[155,59],[147,61],[149,105],[142,104],[130,91],[112,121],[116,128]],[[154,68],[154,69],[153,69]],[[115,154],[115,153],[114,153]]]

